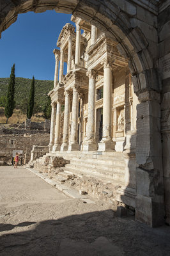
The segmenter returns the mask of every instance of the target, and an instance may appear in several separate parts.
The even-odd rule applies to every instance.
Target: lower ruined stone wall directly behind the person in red
[[[6,131],[6,130],[5,130]],[[25,132],[25,133],[24,133]],[[23,150],[23,159],[26,154],[26,163],[30,160],[31,150],[33,145],[49,145],[50,135],[43,132],[37,131],[26,133],[26,131],[1,131],[1,141],[0,141],[0,161],[4,164],[12,163],[12,152],[13,150]]]

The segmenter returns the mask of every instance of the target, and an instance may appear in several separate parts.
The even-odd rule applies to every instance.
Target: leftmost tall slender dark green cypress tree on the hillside
[[[13,64],[11,75],[10,75],[10,83],[8,84],[8,92],[6,95],[6,104],[4,108],[4,115],[6,116],[6,124],[8,124],[8,118],[12,116],[13,109],[15,108],[15,64]]]

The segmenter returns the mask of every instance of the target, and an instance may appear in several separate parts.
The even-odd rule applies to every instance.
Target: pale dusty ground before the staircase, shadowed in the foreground
[[[169,256],[170,227],[115,217],[69,198],[29,170],[0,166],[1,256]]]

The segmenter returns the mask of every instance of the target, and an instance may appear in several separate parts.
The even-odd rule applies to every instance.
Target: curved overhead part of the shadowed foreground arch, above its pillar
[[[5,1],[6,2],[6,1]],[[125,6],[129,3],[124,1]],[[127,2],[127,3],[126,3]],[[73,13],[104,31],[107,36],[118,42],[118,50],[129,59],[130,72],[136,93],[141,90],[157,90],[160,84],[155,84],[154,77],[158,78],[153,58],[148,51],[148,41],[139,27],[133,27],[130,18],[135,16],[135,6],[127,13],[117,1],[40,1],[40,0],[8,0],[1,4],[0,33],[17,20],[19,13],[56,12]],[[157,79],[159,81],[159,79]]]

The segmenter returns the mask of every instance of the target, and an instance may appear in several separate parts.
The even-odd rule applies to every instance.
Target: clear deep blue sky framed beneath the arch
[[[71,15],[47,11],[19,14],[17,21],[6,29],[0,40],[0,77],[10,77],[15,63],[15,76],[54,80],[55,58],[61,29]],[[66,72],[66,67],[65,71]]]

